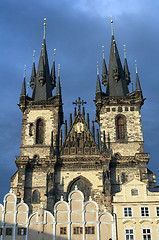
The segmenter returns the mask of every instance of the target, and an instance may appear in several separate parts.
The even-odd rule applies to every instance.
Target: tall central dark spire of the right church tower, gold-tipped
[[[111,20],[111,25],[113,21]],[[112,26],[113,29],[113,26]],[[129,93],[127,82],[125,79],[124,70],[122,68],[120,56],[117,45],[114,39],[114,32],[112,30],[112,40],[109,58],[109,81],[107,85],[107,96],[126,96]]]

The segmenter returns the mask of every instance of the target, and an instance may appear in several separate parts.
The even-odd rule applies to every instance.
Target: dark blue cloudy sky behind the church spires
[[[153,3],[152,3],[153,2]],[[79,96],[87,101],[86,112],[95,119],[96,62],[101,74],[102,45],[108,65],[113,15],[114,33],[123,62],[123,44],[131,78],[134,61],[147,99],[142,107],[145,152],[149,168],[159,182],[159,1],[158,0],[5,0],[0,8],[0,199],[9,190],[15,173],[15,155],[20,153],[21,111],[17,103],[26,64],[30,81],[32,52],[38,65],[47,18],[46,41],[50,68],[56,48],[56,67],[61,65],[64,117],[73,112]],[[104,91],[104,87],[103,87]],[[31,95],[31,89],[29,89]]]

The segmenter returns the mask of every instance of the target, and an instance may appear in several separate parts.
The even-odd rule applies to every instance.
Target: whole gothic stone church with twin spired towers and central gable
[[[75,101],[77,109],[70,114],[69,127],[64,124],[60,69],[55,74],[55,58],[50,71],[47,57],[45,26],[38,68],[33,68],[30,86],[32,97],[26,94],[25,75],[19,107],[22,111],[20,156],[16,156],[17,172],[11,178],[11,188],[18,201],[21,198],[36,211],[53,211],[54,204],[77,186],[85,200],[95,200],[100,210],[111,203],[121,185],[134,178],[149,188],[156,185],[155,175],[147,169],[149,154],[144,153],[141,106],[144,103],[136,68],[136,88],[129,92],[130,73],[125,55],[121,64],[113,21],[109,67],[103,51],[102,84],[97,67],[95,92],[96,119],[85,116],[84,101]],[[51,73],[50,73],[51,72]],[[55,95],[52,90],[56,87]],[[91,126],[90,126],[91,125]]]

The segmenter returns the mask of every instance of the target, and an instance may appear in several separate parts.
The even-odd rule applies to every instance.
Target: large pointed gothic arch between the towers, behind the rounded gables
[[[84,194],[85,201],[88,201],[89,196],[92,196],[91,182],[83,176],[74,178],[67,187],[67,197],[68,197],[69,193],[75,189],[75,186],[77,186],[78,190],[80,190]]]

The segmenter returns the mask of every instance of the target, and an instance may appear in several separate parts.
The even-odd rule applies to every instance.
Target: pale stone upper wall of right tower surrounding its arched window
[[[126,118],[125,140],[119,141],[116,134],[116,117],[123,115]],[[112,154],[134,156],[144,152],[141,114],[138,106],[103,106],[100,111],[100,131],[103,142],[103,131],[106,135],[106,144]]]

